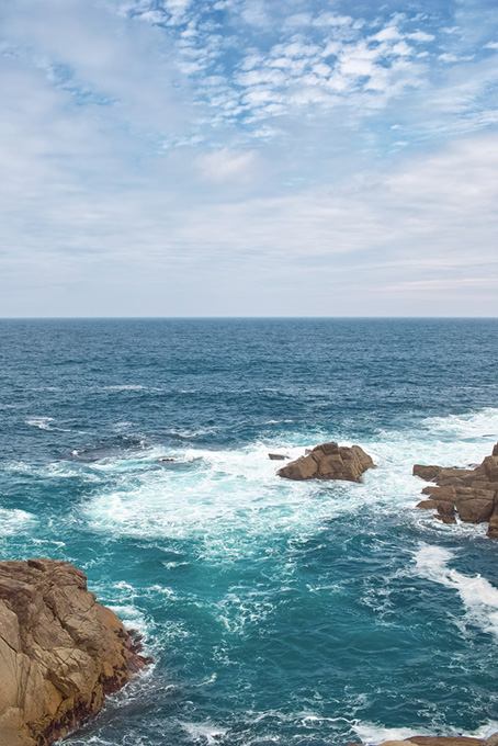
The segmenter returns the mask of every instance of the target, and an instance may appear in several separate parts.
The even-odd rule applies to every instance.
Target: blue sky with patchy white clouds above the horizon
[[[496,0],[0,0],[0,317],[498,316]]]

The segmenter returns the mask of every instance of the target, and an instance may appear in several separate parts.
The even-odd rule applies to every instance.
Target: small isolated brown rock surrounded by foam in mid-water
[[[361,475],[375,464],[360,445],[324,443],[307,455],[291,461],[276,474],[286,479],[346,479],[361,482]]]

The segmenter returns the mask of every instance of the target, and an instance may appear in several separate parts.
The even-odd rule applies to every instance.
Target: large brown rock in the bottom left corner
[[[48,746],[98,712],[147,659],[84,574],[0,562],[0,744]]]

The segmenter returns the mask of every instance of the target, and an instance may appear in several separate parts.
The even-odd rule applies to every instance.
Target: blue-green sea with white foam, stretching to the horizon
[[[498,542],[411,476],[491,452],[497,371],[491,319],[0,321],[0,557],[76,564],[155,659],[68,746],[497,731]],[[275,476],[329,440],[377,468]]]

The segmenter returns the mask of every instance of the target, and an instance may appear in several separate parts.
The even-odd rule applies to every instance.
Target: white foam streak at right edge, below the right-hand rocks
[[[428,580],[453,588],[467,612],[468,621],[498,637],[498,589],[489,580],[451,569],[454,553],[442,546],[422,545],[416,554],[416,573]]]

